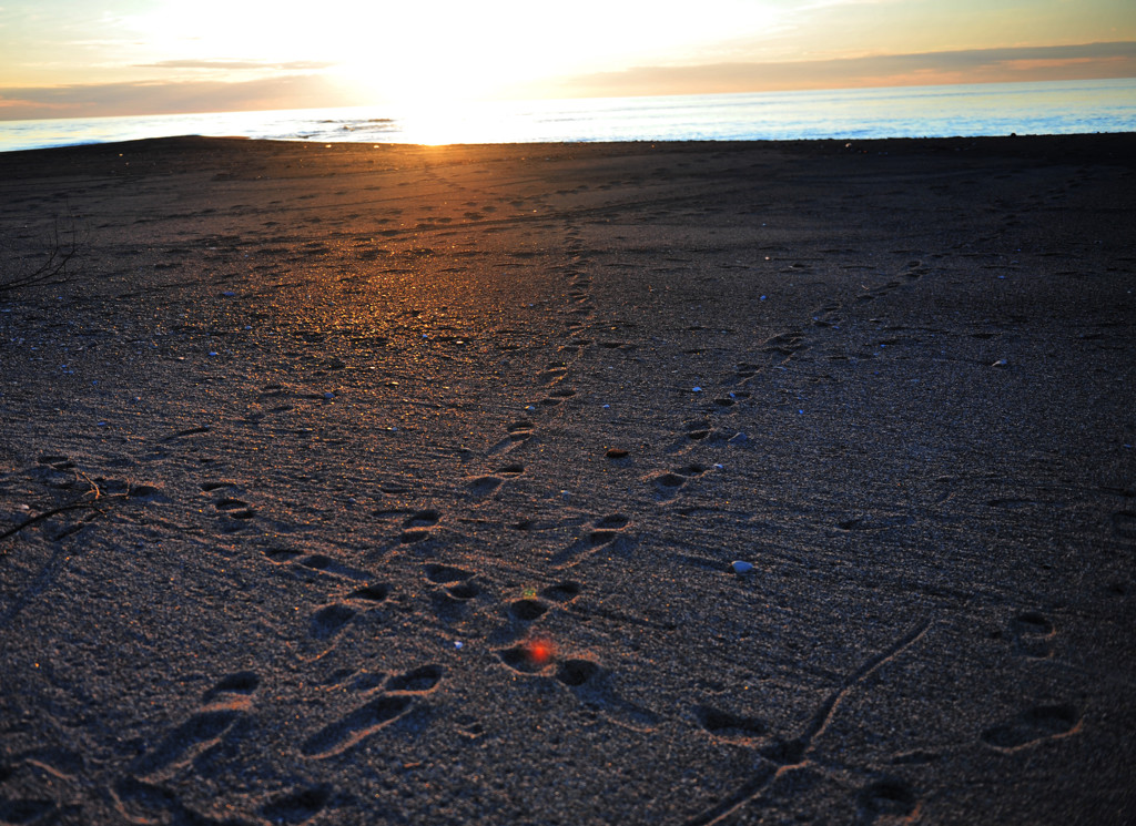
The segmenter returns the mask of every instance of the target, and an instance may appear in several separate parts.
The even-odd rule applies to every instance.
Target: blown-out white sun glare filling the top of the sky
[[[326,64],[328,75],[374,102],[456,106],[531,96],[542,82],[616,71],[628,61],[694,59],[721,39],[777,31],[770,2],[707,0],[699,14],[580,0],[570,14],[518,0],[376,6],[278,3],[272,14],[233,0],[165,2],[124,18],[156,65],[208,73],[209,61]],[[190,57],[192,56],[192,57]],[[253,67],[248,69],[254,71]]]

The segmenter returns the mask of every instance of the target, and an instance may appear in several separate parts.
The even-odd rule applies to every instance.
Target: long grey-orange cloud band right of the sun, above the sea
[[[641,66],[563,78],[556,92],[566,96],[711,94],[1103,77],[1136,77],[1136,42],[829,60]]]

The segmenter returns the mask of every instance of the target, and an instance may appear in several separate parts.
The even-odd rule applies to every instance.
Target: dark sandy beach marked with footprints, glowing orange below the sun
[[[0,155],[0,821],[1133,823],[1134,169]]]

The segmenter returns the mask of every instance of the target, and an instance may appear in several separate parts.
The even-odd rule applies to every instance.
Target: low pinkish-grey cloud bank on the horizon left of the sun
[[[243,83],[190,81],[0,88],[0,119],[257,111],[357,102],[323,76],[296,74]]]

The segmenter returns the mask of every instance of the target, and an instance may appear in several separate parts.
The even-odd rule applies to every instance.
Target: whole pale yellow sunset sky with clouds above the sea
[[[0,120],[1101,77],[1134,0],[0,0]]]

